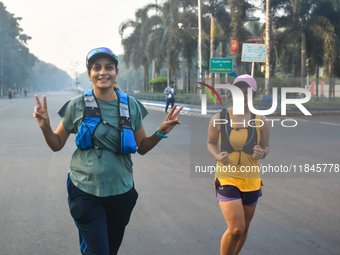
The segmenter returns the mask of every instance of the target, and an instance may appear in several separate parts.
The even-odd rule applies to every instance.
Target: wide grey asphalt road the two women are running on
[[[60,121],[57,110],[72,96],[47,93],[53,128]],[[52,152],[32,117],[34,106],[33,95],[0,100],[0,254],[80,254],[66,194],[75,136]],[[150,110],[147,134],[164,117],[162,110]],[[340,164],[340,118],[295,118],[292,128],[282,127],[282,120],[271,128],[270,154],[261,163],[297,172],[262,175],[263,197],[241,254],[340,254],[340,171],[330,169]],[[214,165],[206,149],[209,118],[181,115],[181,122],[147,155],[133,156],[139,198],[120,255],[219,254],[227,226],[214,177],[195,172],[195,166]],[[305,164],[307,170],[316,164],[326,169],[307,171]]]

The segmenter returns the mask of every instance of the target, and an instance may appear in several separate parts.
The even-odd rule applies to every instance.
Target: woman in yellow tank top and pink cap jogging
[[[239,254],[247,238],[257,200],[262,195],[259,159],[269,152],[269,123],[265,116],[255,116],[248,108],[248,88],[254,97],[255,79],[244,74],[233,84],[243,92],[244,114],[233,114],[230,108],[214,115],[207,141],[208,151],[216,159],[216,196],[228,225],[221,240],[221,255]]]

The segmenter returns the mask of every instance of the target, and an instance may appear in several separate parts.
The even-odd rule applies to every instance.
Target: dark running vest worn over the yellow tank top
[[[238,152],[240,153],[240,157],[238,160],[238,164],[241,164],[241,151],[243,151],[246,154],[253,155],[254,154],[254,147],[258,144],[258,137],[257,137],[257,130],[255,127],[255,114],[251,114],[251,121],[249,122],[248,127],[244,128],[232,128],[230,125],[230,116],[229,111],[226,109],[223,109],[220,113],[220,118],[223,120],[227,120],[227,124],[221,124],[221,151],[226,151],[229,154],[232,152]],[[232,141],[230,140],[230,133],[231,130],[240,130],[240,129],[247,129],[248,130],[248,136],[247,141],[245,144],[243,144],[242,150],[235,150],[232,146]]]

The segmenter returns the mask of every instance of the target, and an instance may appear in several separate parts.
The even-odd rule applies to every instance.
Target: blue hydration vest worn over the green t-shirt
[[[137,151],[135,136],[133,134],[130,118],[129,97],[120,90],[115,91],[118,96],[119,106],[119,130],[120,130],[120,153],[130,154]],[[100,109],[93,94],[93,89],[83,95],[85,103],[83,121],[78,128],[76,145],[79,149],[86,150],[95,147],[92,136],[100,122],[108,124],[101,117]]]

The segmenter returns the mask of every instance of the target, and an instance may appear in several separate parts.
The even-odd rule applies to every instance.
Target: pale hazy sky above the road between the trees
[[[31,36],[30,52],[39,59],[74,73],[85,71],[86,54],[106,46],[123,53],[119,25],[155,0],[0,0],[7,11],[22,17],[20,27]],[[158,0],[158,3],[161,1]]]

